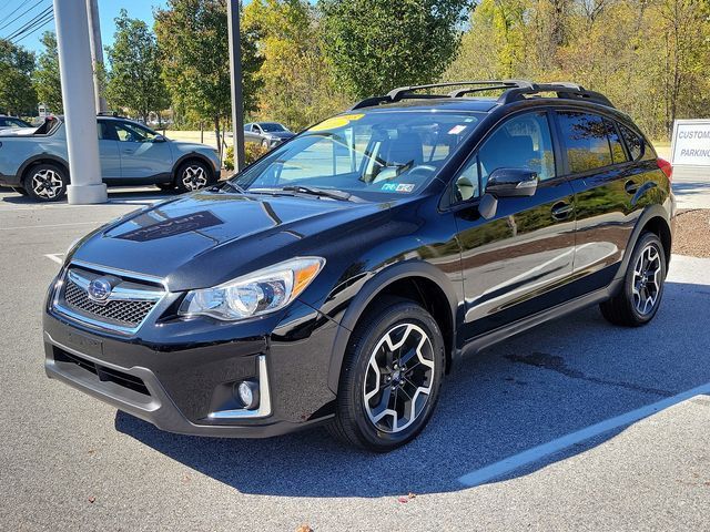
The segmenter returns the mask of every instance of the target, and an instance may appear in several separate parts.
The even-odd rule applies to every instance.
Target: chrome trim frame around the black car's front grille
[[[102,274],[113,274],[113,275],[121,276],[122,278],[146,280],[149,283],[160,284],[164,288],[164,291],[160,293],[161,296],[158,299],[155,299],[155,305],[153,305],[153,308],[150,309],[150,311],[145,315],[143,320],[140,324],[138,324],[135,327],[126,327],[126,326],[110,324],[108,321],[101,321],[101,320],[81,315],[79,313],[74,313],[73,310],[67,308],[64,305],[61,305],[59,303],[59,295],[61,294],[64,282],[69,276],[69,268],[71,268],[72,266],[79,266],[81,268],[95,270],[97,273],[102,273]],[[158,290],[155,290],[154,294],[159,294]],[[71,263],[68,263],[64,265],[64,267],[62,268],[58,277],[57,283],[54,284],[54,294],[52,297],[51,310],[55,311],[60,316],[69,318],[72,321],[75,321],[80,325],[83,325],[90,328],[99,329],[110,334],[132,336],[132,335],[135,335],[135,332],[139,331],[139,329],[143,326],[143,324],[145,324],[148,319],[156,311],[156,309],[160,307],[160,303],[164,300],[164,298],[168,297],[170,291],[168,290],[165,280],[160,277],[145,275],[145,274],[138,274],[138,273],[129,272],[125,269],[111,268],[109,266],[102,266],[100,264],[88,263],[84,260],[72,260]]]

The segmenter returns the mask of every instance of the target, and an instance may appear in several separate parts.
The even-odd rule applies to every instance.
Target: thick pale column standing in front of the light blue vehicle
[[[54,0],[54,20],[71,174],[69,203],[104,203],[85,1]]]

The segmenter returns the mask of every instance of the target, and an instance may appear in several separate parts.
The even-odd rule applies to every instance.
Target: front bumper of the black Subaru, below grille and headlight
[[[235,328],[230,339],[224,331],[207,338],[204,330],[191,338],[190,321],[146,323],[143,338],[115,337],[48,308],[44,367],[48,377],[170,432],[283,434],[327,421],[335,399],[327,372],[338,326],[305,305],[294,307],[271,334],[240,336]],[[164,344],[155,341],[161,336]],[[242,380],[258,382],[258,409],[234,406]]]

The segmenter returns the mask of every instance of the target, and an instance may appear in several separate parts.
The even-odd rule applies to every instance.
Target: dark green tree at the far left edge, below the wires
[[[37,112],[33,71],[34,53],[0,39],[0,111],[16,115]]]

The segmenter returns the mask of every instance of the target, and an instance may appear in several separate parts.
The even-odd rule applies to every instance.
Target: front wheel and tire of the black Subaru
[[[445,364],[444,339],[432,315],[412,300],[383,298],[353,331],[328,432],[368,451],[404,446],[426,427]],[[415,400],[397,403],[400,395]]]

